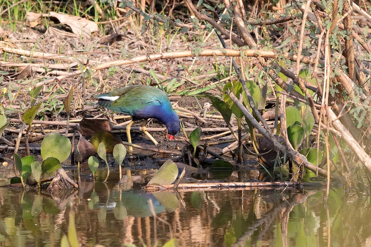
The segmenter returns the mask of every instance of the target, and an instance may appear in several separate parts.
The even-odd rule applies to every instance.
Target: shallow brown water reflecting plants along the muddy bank
[[[0,185],[9,183],[11,170],[0,169]],[[70,210],[81,246],[162,246],[172,237],[177,246],[371,243],[370,198],[345,198],[341,187],[331,189],[327,203],[318,188],[147,193],[142,186],[153,173],[125,170],[120,187],[117,170],[107,184],[93,184],[85,171],[79,191],[58,194],[0,188],[0,246],[60,246]]]

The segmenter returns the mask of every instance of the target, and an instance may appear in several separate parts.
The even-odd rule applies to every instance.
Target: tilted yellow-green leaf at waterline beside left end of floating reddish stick
[[[170,159],[168,159],[158,171],[154,174],[152,179],[148,182],[148,184],[154,185],[165,185],[171,184],[177,179],[178,176],[178,167],[177,165]]]

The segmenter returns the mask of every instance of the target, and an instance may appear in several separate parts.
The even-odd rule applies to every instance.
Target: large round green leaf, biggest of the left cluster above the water
[[[43,160],[54,157],[62,163],[69,157],[71,148],[68,137],[59,133],[50,133],[41,143],[41,156]]]

